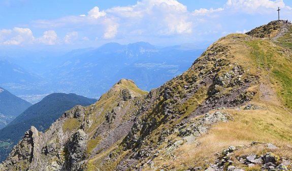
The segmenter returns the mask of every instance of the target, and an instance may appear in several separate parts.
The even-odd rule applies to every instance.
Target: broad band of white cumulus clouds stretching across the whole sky
[[[105,43],[108,41],[134,42],[177,40],[190,42],[193,40],[220,38],[227,33],[244,33],[243,28],[251,22],[258,26],[262,18],[273,18],[277,7],[291,11],[285,6],[284,0],[225,0],[221,7],[197,8],[188,11],[187,7],[176,0],[139,0],[135,5],[113,7],[100,10],[99,7],[88,9],[86,14],[64,16],[52,20],[40,19],[29,26],[44,32],[39,38],[26,30],[0,30],[0,43],[23,44],[40,43],[45,45],[60,45],[88,43]],[[212,5],[210,5],[212,7]],[[269,12],[270,11],[270,12]],[[284,14],[284,9],[283,11]],[[247,18],[246,14],[258,15],[258,18]],[[289,16],[289,12],[285,12]],[[271,17],[272,16],[272,17]],[[277,13],[275,14],[275,18]],[[268,18],[268,19],[267,19]],[[284,18],[284,15],[283,15]],[[262,20],[261,20],[262,21]],[[265,21],[266,22],[266,21]],[[231,24],[232,23],[232,24]],[[266,24],[266,23],[263,23]],[[57,33],[58,35],[57,35]],[[224,32],[224,33],[223,33]],[[61,39],[60,39],[61,38]],[[153,43],[153,42],[150,42]]]

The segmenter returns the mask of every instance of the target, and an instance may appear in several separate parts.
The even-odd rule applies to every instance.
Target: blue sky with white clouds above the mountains
[[[167,46],[216,41],[278,18],[290,0],[2,0],[0,48],[75,49],[138,41]]]

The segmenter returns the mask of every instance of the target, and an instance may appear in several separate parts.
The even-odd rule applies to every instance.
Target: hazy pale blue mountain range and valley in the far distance
[[[22,58],[7,58],[13,63],[6,62],[10,68],[1,67],[0,72],[19,74],[28,81],[0,75],[0,85],[31,103],[54,92],[99,98],[121,78],[132,79],[139,88],[150,91],[187,70],[203,51],[192,44],[160,48],[137,42],[108,43],[51,56],[25,52]]]

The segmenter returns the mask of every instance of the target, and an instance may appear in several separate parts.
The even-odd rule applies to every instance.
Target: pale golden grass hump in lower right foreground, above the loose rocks
[[[189,166],[208,167],[206,163],[214,163],[216,153],[221,153],[229,146],[250,145],[252,141],[264,141],[274,144],[280,149],[274,151],[279,156],[292,159],[292,153],[286,145],[292,144],[292,115],[283,108],[269,106],[269,110],[225,110],[231,113],[233,120],[227,123],[213,125],[209,132],[198,137],[200,143],[184,144],[178,148],[174,155],[180,159],[171,157],[164,160],[154,160],[155,166],[175,167],[177,170],[188,169]],[[266,152],[263,147],[255,147],[237,152],[240,154],[262,154]],[[171,161],[171,162],[170,162]],[[148,167],[146,167],[148,168]]]

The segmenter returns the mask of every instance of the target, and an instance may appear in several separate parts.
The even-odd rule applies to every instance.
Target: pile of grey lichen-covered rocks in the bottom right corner
[[[237,151],[247,151],[251,148],[265,148],[267,151],[277,149],[276,146],[264,142],[253,142],[249,146],[229,146],[228,149],[223,149],[215,164],[211,164],[205,170],[246,170],[246,169],[260,169],[260,170],[288,170],[291,161],[286,160],[285,157],[280,157],[272,152],[264,154],[242,154],[236,155]]]

